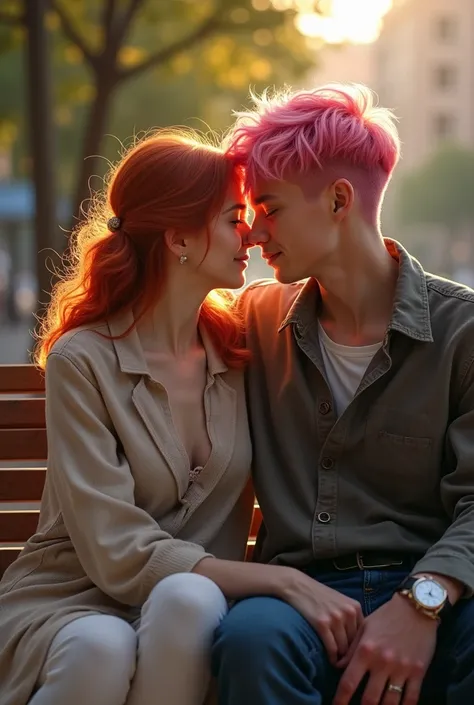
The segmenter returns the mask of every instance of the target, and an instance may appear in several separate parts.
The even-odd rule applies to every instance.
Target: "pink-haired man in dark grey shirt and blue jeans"
[[[213,646],[219,702],[468,705],[474,292],[382,237],[399,140],[367,88],[257,101],[230,151],[277,279],[242,296],[255,560],[314,578],[320,609],[238,602]]]

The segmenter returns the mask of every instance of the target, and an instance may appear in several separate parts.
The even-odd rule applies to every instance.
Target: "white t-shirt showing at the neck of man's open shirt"
[[[354,398],[361,379],[375,353],[382,347],[382,342],[359,347],[341,345],[331,340],[320,323],[318,325],[324,368],[336,413],[340,416]]]

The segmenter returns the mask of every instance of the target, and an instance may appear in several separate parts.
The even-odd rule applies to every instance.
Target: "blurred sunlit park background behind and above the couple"
[[[384,233],[473,286],[473,68],[474,0],[0,0],[0,363],[28,360],[46,266],[109,160],[153,126],[225,130],[249,87],[374,88],[403,143]]]

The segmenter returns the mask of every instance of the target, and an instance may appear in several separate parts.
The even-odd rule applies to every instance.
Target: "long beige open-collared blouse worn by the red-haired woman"
[[[63,336],[46,368],[48,471],[37,533],[0,582],[0,703],[26,705],[57,631],[133,621],[156,583],[207,555],[241,560],[252,514],[243,373],[202,330],[212,450],[189,459],[132,314]]]

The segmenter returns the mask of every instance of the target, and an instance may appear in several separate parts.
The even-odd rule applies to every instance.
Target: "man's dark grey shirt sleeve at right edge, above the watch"
[[[441,500],[451,525],[412,574],[439,573],[459,580],[474,594],[474,367],[471,359],[461,385],[458,413],[448,427],[446,457],[453,469],[441,479]]]

